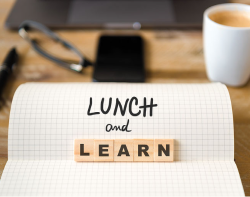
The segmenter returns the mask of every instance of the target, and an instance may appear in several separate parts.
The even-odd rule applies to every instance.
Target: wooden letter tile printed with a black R
[[[134,161],[154,161],[154,140],[134,140]]]

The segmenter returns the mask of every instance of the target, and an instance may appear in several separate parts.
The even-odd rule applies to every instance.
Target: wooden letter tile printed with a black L
[[[94,140],[76,139],[74,143],[75,161],[94,161]]]

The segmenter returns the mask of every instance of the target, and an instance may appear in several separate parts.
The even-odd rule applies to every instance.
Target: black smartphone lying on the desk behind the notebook
[[[93,81],[144,82],[143,58],[140,36],[101,36]]]

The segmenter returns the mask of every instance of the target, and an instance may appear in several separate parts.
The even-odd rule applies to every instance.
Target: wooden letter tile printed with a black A
[[[134,160],[134,140],[116,139],[114,140],[114,161]]]

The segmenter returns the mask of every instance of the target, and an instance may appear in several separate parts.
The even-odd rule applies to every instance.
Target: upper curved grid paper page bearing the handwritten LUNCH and
[[[150,99],[158,106],[153,115],[113,115],[115,99],[136,96],[138,106]],[[113,98],[108,114],[101,99]],[[138,111],[133,105],[133,111]],[[125,125],[131,132],[106,132],[107,124]],[[234,134],[230,97],[222,84],[93,84],[28,83],[12,102],[9,124],[9,159],[72,160],[74,139],[175,139],[175,160],[233,161]]]

